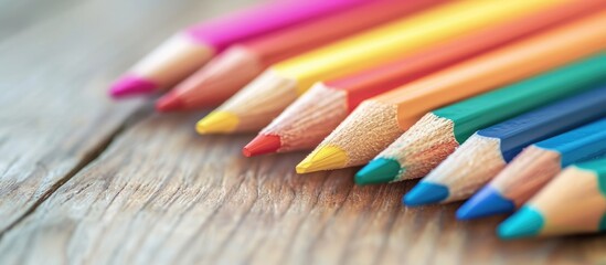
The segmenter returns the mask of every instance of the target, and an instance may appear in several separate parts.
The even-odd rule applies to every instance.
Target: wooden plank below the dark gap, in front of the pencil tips
[[[244,158],[252,136],[201,137],[201,115],[151,115],[9,231],[0,263],[588,264],[600,236],[501,242],[498,218],[407,209],[413,183],[297,176],[305,153]]]

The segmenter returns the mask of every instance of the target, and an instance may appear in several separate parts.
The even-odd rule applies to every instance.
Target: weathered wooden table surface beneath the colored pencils
[[[179,28],[254,0],[0,1],[0,264],[606,264],[606,239],[501,242],[404,208],[412,182],[298,176],[107,86]]]

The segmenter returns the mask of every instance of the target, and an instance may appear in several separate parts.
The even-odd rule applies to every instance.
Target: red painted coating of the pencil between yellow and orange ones
[[[512,41],[562,24],[572,19],[594,12],[606,1],[570,2],[541,12],[508,21],[456,38],[443,45],[432,46],[404,56],[393,63],[381,65],[354,75],[326,81],[328,87],[348,93],[348,108],[352,112],[363,100],[407,82],[436,72],[456,62],[465,61]]]

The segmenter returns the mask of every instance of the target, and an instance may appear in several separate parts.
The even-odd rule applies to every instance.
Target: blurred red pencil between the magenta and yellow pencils
[[[440,1],[444,0],[366,1],[331,17],[237,43],[178,84],[158,100],[156,108],[170,112],[221,104],[274,63]]]

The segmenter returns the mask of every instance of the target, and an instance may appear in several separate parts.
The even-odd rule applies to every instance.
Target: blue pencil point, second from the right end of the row
[[[457,210],[457,219],[470,220],[513,211],[515,211],[515,204],[511,200],[487,186]]]

